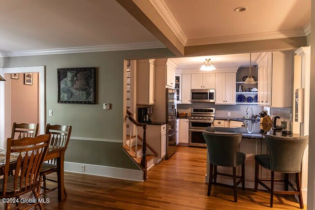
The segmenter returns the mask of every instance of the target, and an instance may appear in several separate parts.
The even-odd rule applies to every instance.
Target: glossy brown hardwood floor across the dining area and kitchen
[[[65,173],[68,196],[58,202],[57,191],[45,195],[50,199],[46,210],[271,210],[270,194],[238,188],[238,202],[233,190],[213,186],[207,197],[206,150],[179,147],[169,159],[148,171],[145,182],[126,181],[90,175]],[[52,178],[53,176],[50,176]],[[294,196],[275,196],[273,210],[298,210]],[[306,208],[305,208],[306,209]]]

